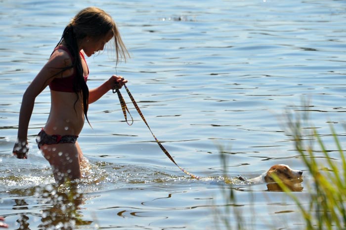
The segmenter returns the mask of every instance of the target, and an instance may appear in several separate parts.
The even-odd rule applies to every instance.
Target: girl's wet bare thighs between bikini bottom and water
[[[56,183],[62,184],[66,180],[81,178],[80,166],[83,153],[77,142],[43,145],[41,150],[53,169]]]

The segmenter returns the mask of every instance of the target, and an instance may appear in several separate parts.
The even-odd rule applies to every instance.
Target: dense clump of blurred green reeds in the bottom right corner
[[[305,110],[308,111],[304,106]],[[308,188],[308,205],[302,205],[297,196],[289,191],[283,183],[276,180],[284,192],[289,194],[299,207],[305,221],[306,230],[344,230],[346,228],[346,159],[338,135],[330,125],[331,136],[338,154],[327,150],[321,135],[309,124],[307,112],[301,117],[298,113],[287,113],[286,134],[293,138],[295,149],[311,175],[312,186]],[[320,156],[313,150],[319,147]],[[323,157],[324,162],[317,160]],[[341,166],[333,160],[339,157]]]

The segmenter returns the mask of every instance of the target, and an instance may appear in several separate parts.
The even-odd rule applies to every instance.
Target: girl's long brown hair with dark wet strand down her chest
[[[67,69],[74,68],[76,71],[76,77],[74,78],[73,82],[73,90],[77,95],[75,105],[78,102],[79,97],[81,96],[80,92],[82,91],[83,112],[89,125],[90,122],[87,118],[89,89],[84,79],[79,45],[80,42],[86,37],[101,39],[110,31],[112,31],[114,36],[117,57],[116,64],[118,64],[120,59],[124,59],[126,61],[126,56],[130,57],[130,55],[120,36],[116,23],[109,14],[97,7],[87,7],[81,10],[66,26],[60,41],[56,45],[56,47],[58,47],[63,41],[70,50],[72,55],[72,66],[68,67]]]

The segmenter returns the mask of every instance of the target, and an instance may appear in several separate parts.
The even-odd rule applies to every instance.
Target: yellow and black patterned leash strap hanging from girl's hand
[[[128,94],[129,94],[129,97],[130,97],[130,99],[131,99],[131,101],[132,101],[132,104],[134,105],[134,108],[137,110],[137,112],[138,112],[138,114],[140,115],[140,117],[142,117],[142,120],[144,121],[144,123],[145,123],[146,126],[148,127],[149,131],[150,131],[151,134],[153,135],[153,137],[154,137],[156,143],[160,146],[161,150],[168,156],[168,158],[170,158],[170,159],[172,160],[172,162],[173,162],[181,171],[183,171],[184,173],[186,173],[187,175],[189,175],[189,176],[192,177],[192,178],[199,179],[198,176],[193,175],[192,173],[190,173],[190,172],[186,171],[185,169],[181,168],[181,167],[174,161],[174,159],[173,159],[173,157],[171,156],[171,154],[168,153],[168,151],[165,149],[165,147],[163,147],[163,145],[161,144],[161,142],[155,137],[153,131],[151,131],[151,128],[149,127],[147,121],[146,121],[145,118],[144,118],[144,115],[143,115],[142,112],[140,111],[140,109],[139,109],[139,107],[138,107],[136,101],[133,99],[133,96],[132,96],[132,94],[130,93],[129,88],[128,88],[125,84],[124,84],[124,87],[125,87],[126,91],[127,91]],[[118,94],[119,101],[120,101],[120,105],[121,105],[121,108],[122,108],[122,110],[123,110],[123,114],[124,114],[125,120],[126,120],[126,122],[127,122],[129,125],[132,125],[132,123],[133,123],[133,118],[132,118],[132,116],[131,116],[131,114],[130,114],[130,111],[129,111],[129,109],[128,109],[126,103],[125,103],[125,100],[124,100],[124,98],[123,98],[123,95],[120,93],[120,90],[119,90],[118,88],[114,88],[114,89],[113,89],[113,93],[117,93],[117,94]],[[130,115],[130,117],[131,117],[131,120],[132,120],[131,123],[128,122],[128,118],[127,118],[126,112],[128,112],[129,115]]]

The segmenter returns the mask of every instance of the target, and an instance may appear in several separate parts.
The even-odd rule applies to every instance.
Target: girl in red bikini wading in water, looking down
[[[66,26],[48,62],[23,95],[13,154],[18,158],[27,158],[28,125],[35,98],[48,85],[51,96],[50,113],[36,141],[59,184],[81,178],[83,153],[77,138],[82,131],[84,119],[89,122],[88,105],[110,89],[121,88],[128,82],[123,77],[113,75],[95,89],[89,90],[87,87],[89,70],[84,55],[90,57],[103,50],[111,38],[115,41],[117,63],[120,58],[126,61],[129,53],[112,17],[96,7],[81,10]]]

